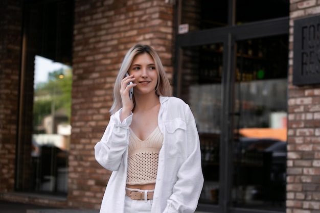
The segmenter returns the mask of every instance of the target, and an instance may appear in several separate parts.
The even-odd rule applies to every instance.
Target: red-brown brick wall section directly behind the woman
[[[135,43],[150,44],[172,80],[174,6],[165,2],[76,1],[68,179],[71,207],[100,207],[111,173],[96,162],[94,146],[108,124],[113,84],[127,50]]]

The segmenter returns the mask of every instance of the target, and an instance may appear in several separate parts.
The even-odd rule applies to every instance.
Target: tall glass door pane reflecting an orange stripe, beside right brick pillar
[[[285,210],[288,36],[237,42],[232,201]]]

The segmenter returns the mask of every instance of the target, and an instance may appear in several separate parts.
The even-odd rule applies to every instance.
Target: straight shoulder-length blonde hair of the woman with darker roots
[[[158,73],[158,82],[155,88],[156,95],[168,97],[172,96],[172,88],[158,54],[149,45],[136,44],[127,52],[122,61],[116,79],[115,87],[113,87],[113,104],[110,109],[111,114],[117,112],[122,107],[122,100],[120,96],[121,80],[125,77],[126,73],[128,72],[132,64],[132,61],[134,60],[134,57],[142,53],[148,53],[154,60],[155,69]]]

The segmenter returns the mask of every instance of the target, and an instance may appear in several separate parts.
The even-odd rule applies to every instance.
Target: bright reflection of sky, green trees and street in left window
[[[32,134],[34,190],[67,192],[72,69],[35,57]]]

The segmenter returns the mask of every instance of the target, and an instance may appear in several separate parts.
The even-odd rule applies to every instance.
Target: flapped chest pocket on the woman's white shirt
[[[168,157],[183,157],[186,149],[186,130],[187,124],[182,119],[174,119],[165,122],[166,131],[168,134]]]

